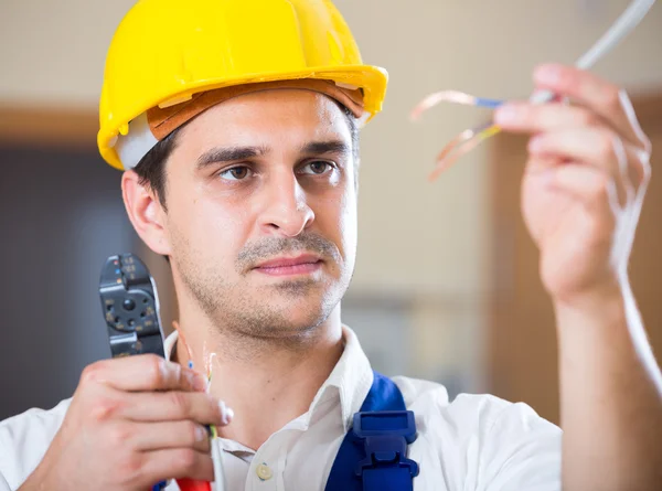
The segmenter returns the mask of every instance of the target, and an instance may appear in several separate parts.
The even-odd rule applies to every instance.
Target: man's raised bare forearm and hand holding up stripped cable
[[[662,373],[627,275],[651,143],[618,87],[558,65],[535,81],[574,105],[517,104],[495,120],[535,135],[522,207],[556,314],[563,489],[658,491]]]

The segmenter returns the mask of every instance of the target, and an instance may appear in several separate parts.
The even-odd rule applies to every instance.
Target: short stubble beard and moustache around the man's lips
[[[174,231],[173,231],[174,232]],[[235,269],[222,270],[195,250],[185,236],[172,234],[173,274],[184,295],[209,319],[209,335],[221,335],[229,355],[250,357],[277,346],[300,351],[324,335],[320,329],[349,288],[353,261],[343,260],[335,245],[316,233],[269,237],[246,244]],[[253,268],[282,253],[317,252],[324,260],[322,279],[311,277],[255,285]],[[236,279],[229,280],[228,277]],[[191,327],[190,329],[195,329]],[[266,349],[266,350],[265,350]]]

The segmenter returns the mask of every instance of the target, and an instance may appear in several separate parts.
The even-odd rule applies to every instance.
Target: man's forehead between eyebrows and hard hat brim
[[[330,97],[305,89],[271,89],[232,98],[207,109],[183,128],[181,140],[199,145],[256,145],[351,139],[345,111]]]

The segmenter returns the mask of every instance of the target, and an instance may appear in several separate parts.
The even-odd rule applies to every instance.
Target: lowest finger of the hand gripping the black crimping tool
[[[167,479],[214,481],[214,465],[209,452],[191,448],[148,451],[143,453],[141,474],[149,482]]]

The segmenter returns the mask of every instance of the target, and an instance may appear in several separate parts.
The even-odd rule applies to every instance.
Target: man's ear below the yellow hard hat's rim
[[[121,177],[121,194],[129,220],[142,242],[154,253],[170,255],[170,242],[163,228],[166,210],[157,194],[132,171]]]

